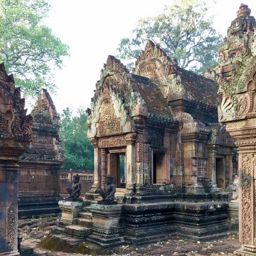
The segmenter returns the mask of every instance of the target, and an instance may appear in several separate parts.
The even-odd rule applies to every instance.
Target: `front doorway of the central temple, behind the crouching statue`
[[[109,153],[108,154],[108,171],[113,175],[113,183],[117,188],[126,188],[126,170],[125,170],[125,153]]]

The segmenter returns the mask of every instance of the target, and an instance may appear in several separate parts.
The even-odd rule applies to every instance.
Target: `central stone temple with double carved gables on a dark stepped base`
[[[105,186],[106,175],[114,177],[122,207],[112,211],[124,223],[115,227],[117,244],[174,233],[209,240],[227,231],[223,192],[237,170],[233,138],[218,124],[217,91],[216,81],[180,68],[151,41],[132,72],[107,58],[88,110],[95,153],[91,193]],[[95,220],[110,216],[103,214],[109,208],[99,208],[91,206]],[[100,225],[93,223],[89,240],[109,246]]]

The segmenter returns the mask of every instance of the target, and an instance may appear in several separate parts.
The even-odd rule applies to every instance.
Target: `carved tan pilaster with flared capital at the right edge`
[[[255,119],[240,120],[227,124],[238,146],[239,187],[239,240],[242,248],[237,255],[255,255],[255,170],[256,133]]]

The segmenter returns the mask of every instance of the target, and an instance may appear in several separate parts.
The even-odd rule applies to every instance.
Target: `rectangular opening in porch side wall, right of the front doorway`
[[[153,152],[153,184],[163,184],[167,182],[167,170],[166,170],[166,153],[165,152]]]

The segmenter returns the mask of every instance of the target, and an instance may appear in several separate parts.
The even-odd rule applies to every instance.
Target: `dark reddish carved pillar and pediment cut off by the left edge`
[[[30,146],[31,122],[21,89],[0,65],[0,255],[19,255],[18,160]]]

